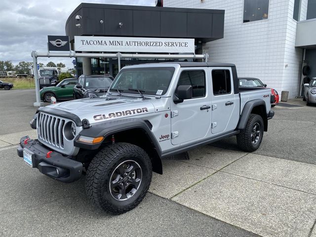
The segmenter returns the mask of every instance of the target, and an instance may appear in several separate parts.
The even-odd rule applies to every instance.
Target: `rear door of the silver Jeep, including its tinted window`
[[[209,68],[211,75],[212,133],[236,128],[239,119],[239,95],[234,94],[231,68]]]

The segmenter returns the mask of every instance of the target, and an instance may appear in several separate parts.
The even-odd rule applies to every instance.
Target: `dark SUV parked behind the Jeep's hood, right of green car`
[[[78,84],[74,87],[75,99],[89,98],[104,95],[114,78],[109,75],[81,75]]]

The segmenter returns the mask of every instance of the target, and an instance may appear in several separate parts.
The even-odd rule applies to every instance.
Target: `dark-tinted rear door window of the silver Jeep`
[[[230,94],[232,91],[231,74],[229,70],[212,71],[213,94]]]

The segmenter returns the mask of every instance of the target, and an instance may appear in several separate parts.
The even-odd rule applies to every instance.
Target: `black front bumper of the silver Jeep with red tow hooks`
[[[17,148],[19,157],[23,158],[24,148],[32,153],[33,168],[38,168],[42,174],[64,183],[74,182],[81,177],[81,162],[58,152],[50,153],[50,158],[47,158],[47,153],[51,150],[43,146],[39,140],[31,140],[29,136],[22,137]]]

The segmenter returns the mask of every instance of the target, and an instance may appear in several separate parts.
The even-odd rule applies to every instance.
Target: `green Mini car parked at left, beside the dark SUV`
[[[50,97],[57,100],[74,99],[74,86],[78,84],[77,78],[63,79],[56,86],[49,86],[40,89],[40,100],[50,102]]]

